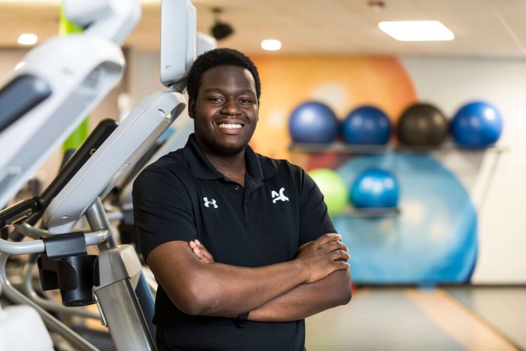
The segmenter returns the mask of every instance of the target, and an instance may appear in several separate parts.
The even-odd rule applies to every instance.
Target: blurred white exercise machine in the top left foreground
[[[0,209],[119,82],[138,0],[64,0],[86,28],[30,50],[0,90]]]

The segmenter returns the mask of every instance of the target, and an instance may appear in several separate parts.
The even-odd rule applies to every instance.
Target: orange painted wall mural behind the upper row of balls
[[[256,152],[285,158],[302,166],[305,160],[288,151],[288,120],[306,100],[324,102],[339,119],[353,108],[375,105],[392,121],[417,97],[396,58],[352,56],[253,56],[261,78],[259,122],[250,142]]]

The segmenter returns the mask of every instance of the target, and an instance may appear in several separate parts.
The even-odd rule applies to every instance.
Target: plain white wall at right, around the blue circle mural
[[[526,60],[401,58],[418,98],[451,117],[471,100],[485,100],[504,120],[495,151],[453,151],[440,159],[457,174],[478,208],[479,256],[473,283],[526,283]],[[492,166],[496,166],[491,174]]]

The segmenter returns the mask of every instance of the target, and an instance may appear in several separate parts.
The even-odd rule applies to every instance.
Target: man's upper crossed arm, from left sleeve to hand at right
[[[146,260],[181,311],[190,315],[232,316],[254,311],[301,283],[316,282],[335,270],[347,270],[349,264],[342,260],[348,260],[349,255],[342,250],[346,247],[340,238],[333,233],[321,235],[296,259],[255,268],[201,260],[184,241],[161,244]]]

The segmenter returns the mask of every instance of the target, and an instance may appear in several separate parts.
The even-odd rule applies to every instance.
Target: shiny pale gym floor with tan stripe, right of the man
[[[524,350],[526,287],[362,287],[306,320],[317,350]]]

